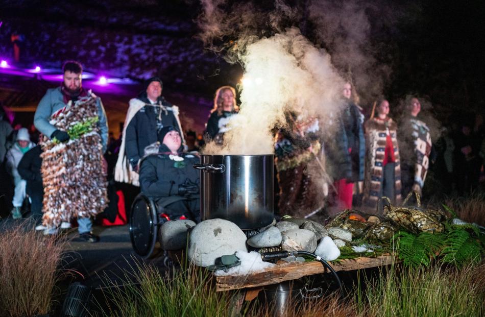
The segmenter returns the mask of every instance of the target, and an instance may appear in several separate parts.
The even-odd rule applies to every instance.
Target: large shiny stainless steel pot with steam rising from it
[[[202,220],[222,218],[241,229],[273,221],[274,155],[201,155]]]

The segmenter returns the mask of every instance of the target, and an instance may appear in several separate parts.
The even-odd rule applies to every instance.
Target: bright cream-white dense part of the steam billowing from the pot
[[[274,153],[272,130],[285,124],[286,111],[325,118],[340,106],[343,80],[330,56],[297,28],[249,44],[239,59],[246,79],[241,110],[224,146],[209,142],[205,154]]]

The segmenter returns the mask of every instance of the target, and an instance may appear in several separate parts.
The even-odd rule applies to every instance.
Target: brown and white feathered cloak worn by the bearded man
[[[44,136],[42,147],[42,217],[46,226],[57,227],[73,217],[96,215],[107,207],[107,182],[98,125],[98,108],[92,96],[71,102],[50,123],[68,131],[65,143]]]

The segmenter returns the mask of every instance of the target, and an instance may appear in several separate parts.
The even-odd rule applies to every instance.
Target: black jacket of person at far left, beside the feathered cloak
[[[17,166],[18,174],[27,181],[26,192],[28,195],[43,192],[42,175],[40,174],[41,152],[40,145],[33,147],[22,156]]]

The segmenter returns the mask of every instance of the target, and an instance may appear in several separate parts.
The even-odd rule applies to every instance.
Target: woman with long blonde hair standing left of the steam
[[[228,123],[239,112],[236,105],[236,90],[231,86],[222,86],[215,92],[214,108],[210,111],[206,125],[206,136],[222,144],[223,135],[229,130]]]

